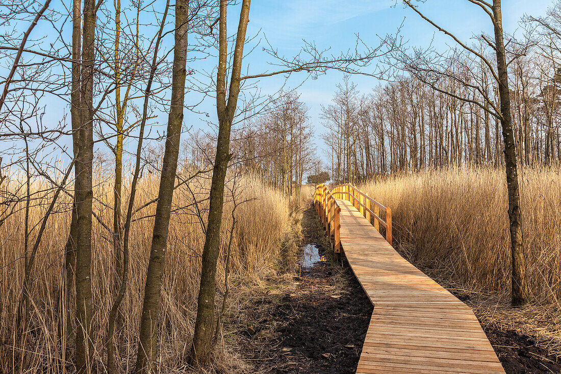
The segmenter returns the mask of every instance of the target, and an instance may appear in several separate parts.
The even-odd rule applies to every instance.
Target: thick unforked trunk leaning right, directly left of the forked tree
[[[179,156],[183,104],[185,102],[185,77],[187,65],[187,31],[189,0],[178,0],[175,6],[176,30],[173,51],[172,97],[169,108],[167,137],[165,139],[162,176],[158,193],[158,204],[154,217],[154,232],[140,320],[139,348],[135,373],[155,372],[158,348],[158,307],[167,248],[169,217],[176,179]],[[128,213],[127,213],[128,214]]]

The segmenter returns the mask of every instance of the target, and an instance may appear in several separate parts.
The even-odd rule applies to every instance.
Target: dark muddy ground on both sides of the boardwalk
[[[302,245],[314,245],[320,255],[329,252],[313,208],[304,212],[302,234]],[[256,322],[246,329],[241,343],[256,371],[356,371],[373,307],[344,259],[342,265],[328,260],[300,267],[254,300]],[[456,296],[462,301],[469,298]],[[561,374],[561,361],[530,336],[495,323],[482,321],[482,326],[507,374]]]

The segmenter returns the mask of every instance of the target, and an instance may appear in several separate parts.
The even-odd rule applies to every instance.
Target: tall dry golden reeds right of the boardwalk
[[[521,207],[528,286],[537,303],[561,298],[561,168],[522,168]],[[511,284],[504,171],[449,168],[361,186],[392,207],[396,247],[431,275],[471,289]]]

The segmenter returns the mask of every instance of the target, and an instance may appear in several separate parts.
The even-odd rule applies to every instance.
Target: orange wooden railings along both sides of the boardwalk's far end
[[[321,218],[328,239],[334,243],[335,253],[341,253],[340,218],[341,207],[337,198],[352,202],[353,206],[366,218],[374,228],[380,231],[380,225],[385,229],[385,239],[392,244],[392,209],[380,204],[350,183],[335,186],[330,191],[325,184],[316,186],[314,205]],[[380,211],[384,212],[385,221],[380,218]]]

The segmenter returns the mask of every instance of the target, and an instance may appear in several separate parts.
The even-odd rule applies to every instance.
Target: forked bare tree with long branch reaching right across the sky
[[[231,56],[231,67],[228,67],[228,35],[227,35],[227,9],[228,1],[220,0],[220,14],[218,18],[218,69],[216,77],[216,101],[218,114],[218,139],[214,159],[213,179],[210,188],[210,207],[208,227],[206,230],[205,245],[203,249],[203,268],[197,304],[197,320],[191,347],[191,364],[206,366],[209,362],[214,325],[214,299],[216,287],[216,270],[219,253],[220,227],[222,223],[224,183],[228,163],[232,157],[229,149],[232,122],[236,115],[238,96],[240,95],[241,82],[247,79],[256,79],[278,74],[305,71],[309,74],[323,74],[330,69],[348,73],[358,73],[362,67],[368,66],[376,57],[396,48],[396,38],[387,37],[376,48],[367,48],[366,52],[358,52],[357,48],[351,53],[339,56],[328,56],[327,51],[321,51],[314,44],[307,43],[301,54],[293,58],[280,56],[274,49],[269,49],[270,55],[277,61],[277,66],[285,69],[264,72],[255,75],[241,76],[243,47],[246,43],[247,24],[249,22],[250,0],[241,3],[240,20],[235,35],[235,43]],[[305,58],[307,57],[307,58]],[[378,71],[377,74],[380,74]],[[374,75],[374,73],[373,73]],[[230,77],[227,86],[227,76]]]

